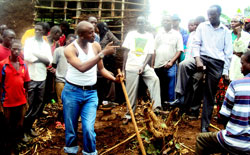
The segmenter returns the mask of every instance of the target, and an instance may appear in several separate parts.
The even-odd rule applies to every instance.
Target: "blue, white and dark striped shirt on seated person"
[[[230,83],[220,114],[229,118],[226,129],[218,132],[220,144],[230,152],[250,154],[250,73]]]

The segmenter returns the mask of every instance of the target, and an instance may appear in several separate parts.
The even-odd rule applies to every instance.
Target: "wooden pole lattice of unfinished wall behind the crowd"
[[[37,20],[52,25],[68,21],[74,27],[79,21],[95,16],[108,23],[110,30],[121,40],[127,28],[139,15],[147,15],[147,0],[37,0]]]

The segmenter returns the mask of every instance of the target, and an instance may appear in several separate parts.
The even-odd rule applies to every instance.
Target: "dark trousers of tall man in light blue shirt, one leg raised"
[[[206,70],[204,71],[206,77],[203,87],[204,102],[201,127],[208,128],[215,104],[214,97],[217,91],[217,85],[222,75],[224,62],[208,56],[201,56],[201,60],[203,65],[206,66]],[[197,73],[195,60],[188,59],[188,61],[183,61],[183,64],[179,66],[175,91],[182,95],[185,94],[187,91],[187,83],[195,73]]]

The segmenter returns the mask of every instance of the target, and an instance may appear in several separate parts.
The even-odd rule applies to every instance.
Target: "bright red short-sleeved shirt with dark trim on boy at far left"
[[[11,64],[10,58],[0,62],[1,103],[3,107],[16,107],[27,102],[24,82],[30,81],[28,67],[19,57],[19,70]]]

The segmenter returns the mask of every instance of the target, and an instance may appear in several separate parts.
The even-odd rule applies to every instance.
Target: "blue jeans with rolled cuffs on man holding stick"
[[[98,97],[96,90],[83,90],[69,83],[62,92],[63,115],[65,122],[65,153],[77,154],[77,128],[79,115],[82,119],[84,155],[96,155],[96,133],[94,124]]]

